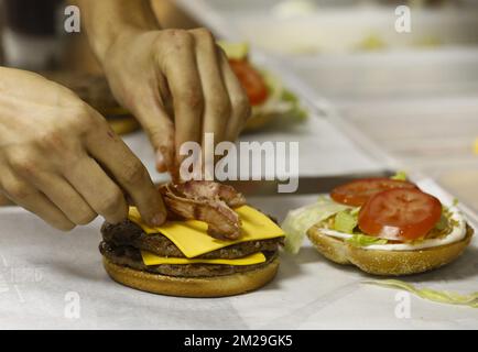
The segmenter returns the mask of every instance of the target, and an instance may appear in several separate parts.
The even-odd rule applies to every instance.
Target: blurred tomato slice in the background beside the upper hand
[[[258,106],[268,99],[268,87],[256,68],[245,59],[230,58],[229,65],[239,78],[252,106]]]

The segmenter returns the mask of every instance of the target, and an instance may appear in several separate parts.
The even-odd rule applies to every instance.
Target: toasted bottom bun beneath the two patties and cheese
[[[279,258],[260,268],[216,277],[173,277],[117,265],[104,257],[105,270],[122,285],[153,294],[180,297],[224,297],[245,294],[269,283],[276,274]]]

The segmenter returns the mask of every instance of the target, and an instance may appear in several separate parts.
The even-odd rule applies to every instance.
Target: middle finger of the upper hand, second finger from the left
[[[174,102],[175,150],[180,165],[184,158],[178,154],[181,145],[189,141],[200,143],[204,98],[193,36],[183,31],[170,33],[175,37],[175,45],[159,65],[167,77]]]

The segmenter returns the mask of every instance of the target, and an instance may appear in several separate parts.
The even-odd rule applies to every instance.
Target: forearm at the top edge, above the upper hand
[[[149,0],[74,0],[93,51],[102,63],[119,35],[160,29]]]

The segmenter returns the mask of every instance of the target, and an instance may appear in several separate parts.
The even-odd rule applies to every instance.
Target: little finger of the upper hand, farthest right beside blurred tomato
[[[231,113],[225,131],[225,140],[236,141],[246,125],[246,121],[250,118],[251,106],[245,89],[230,68],[228,58],[221,50],[219,50],[219,56],[225,86],[229,92],[231,103]]]

